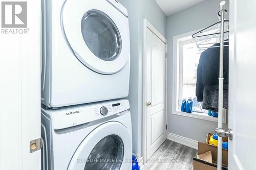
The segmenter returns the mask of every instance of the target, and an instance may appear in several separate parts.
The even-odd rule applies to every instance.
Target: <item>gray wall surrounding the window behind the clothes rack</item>
[[[208,132],[214,132],[218,123],[172,114],[173,82],[173,37],[197,29],[205,28],[218,21],[220,0],[205,0],[193,7],[167,17],[167,111],[168,133],[174,133],[190,139],[205,141]],[[226,1],[226,9],[229,2]],[[229,10],[228,10],[229,11]],[[226,17],[228,18],[228,17]],[[223,125],[227,128],[227,124]]]

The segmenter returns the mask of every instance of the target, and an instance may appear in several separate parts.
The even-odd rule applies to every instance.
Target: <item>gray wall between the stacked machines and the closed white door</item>
[[[142,59],[143,19],[146,18],[165,37],[166,16],[155,0],[118,0],[129,14],[131,72],[128,99],[133,126],[133,152],[142,156]]]

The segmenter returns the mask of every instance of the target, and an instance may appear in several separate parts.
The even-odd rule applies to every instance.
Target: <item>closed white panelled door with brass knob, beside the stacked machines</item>
[[[146,29],[146,160],[166,140],[166,44]]]

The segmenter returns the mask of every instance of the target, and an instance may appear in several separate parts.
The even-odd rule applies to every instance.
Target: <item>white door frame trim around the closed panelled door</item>
[[[149,29],[152,31],[161,41],[163,41],[166,45],[166,52],[165,52],[165,106],[164,112],[166,113],[166,126],[167,126],[167,40],[164,36],[159,33],[159,31],[146,19],[143,19],[143,94],[142,94],[142,160],[143,164],[146,163],[146,130],[147,130],[147,119],[146,119],[146,30]],[[166,128],[166,135],[167,135],[167,128]],[[166,136],[167,138],[167,136]]]

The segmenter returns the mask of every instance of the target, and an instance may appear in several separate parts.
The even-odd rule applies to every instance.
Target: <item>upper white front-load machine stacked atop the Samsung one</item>
[[[41,3],[41,103],[62,107],[126,97],[127,10],[115,0]]]

